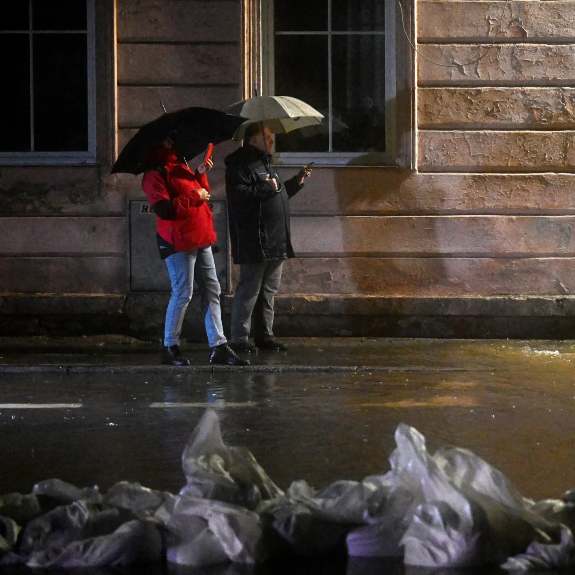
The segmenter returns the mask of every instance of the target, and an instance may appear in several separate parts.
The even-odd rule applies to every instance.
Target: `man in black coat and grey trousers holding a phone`
[[[304,186],[310,168],[282,182],[269,169],[274,140],[261,124],[246,129],[244,145],[225,158],[229,235],[233,262],[240,278],[233,297],[230,346],[235,351],[286,350],[274,338],[274,296],[281,281],[283,260],[293,258],[289,198]],[[250,336],[254,314],[254,340]]]

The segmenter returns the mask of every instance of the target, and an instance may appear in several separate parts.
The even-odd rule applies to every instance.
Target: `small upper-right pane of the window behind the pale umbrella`
[[[331,0],[331,6],[332,30],[385,31],[384,0]]]

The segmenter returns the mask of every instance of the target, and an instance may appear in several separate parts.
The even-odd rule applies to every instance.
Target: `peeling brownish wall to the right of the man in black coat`
[[[286,296],[573,293],[575,3],[504,5],[417,2],[417,170],[316,169]]]

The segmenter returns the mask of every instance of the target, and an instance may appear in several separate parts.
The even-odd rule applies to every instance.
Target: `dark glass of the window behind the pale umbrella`
[[[297,0],[294,10],[293,0],[275,0],[275,30],[327,30],[327,2],[306,5]],[[385,32],[384,0],[332,0],[331,6],[334,32]],[[331,58],[333,151],[385,152],[384,34],[334,34]],[[327,36],[275,37],[275,94],[301,98],[326,116],[323,133],[278,135],[277,151],[328,151],[327,68]]]

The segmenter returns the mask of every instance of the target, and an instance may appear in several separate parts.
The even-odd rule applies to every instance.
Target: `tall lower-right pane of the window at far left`
[[[86,34],[34,34],[34,147],[86,151]]]

